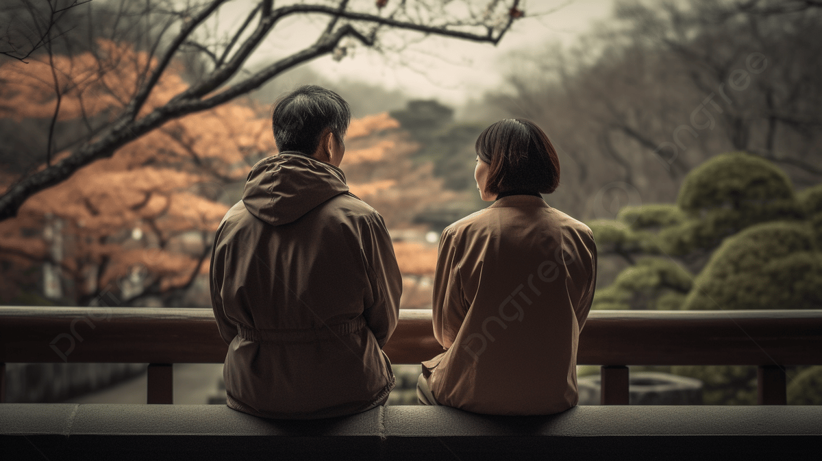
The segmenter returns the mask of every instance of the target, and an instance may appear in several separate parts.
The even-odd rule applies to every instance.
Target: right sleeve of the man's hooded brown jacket
[[[363,236],[363,253],[368,265],[374,302],[363,311],[380,348],[386,345],[399,320],[399,297],[403,278],[394,255],[394,245],[382,217],[368,219],[368,235]]]

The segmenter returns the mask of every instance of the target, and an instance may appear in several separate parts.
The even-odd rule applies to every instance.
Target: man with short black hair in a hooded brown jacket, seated
[[[385,403],[394,387],[382,347],[402,279],[381,215],[339,169],[350,119],[349,104],[320,86],[281,97],[279,154],[252,168],[217,230],[211,302],[229,343],[230,408],[335,417]]]

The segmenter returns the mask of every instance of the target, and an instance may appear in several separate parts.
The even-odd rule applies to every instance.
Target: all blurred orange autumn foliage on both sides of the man
[[[136,85],[129,81],[132,74],[119,70],[128,67],[122,64],[150,65],[145,53],[128,45],[99,45],[106,53],[54,59],[62,75],[61,122],[110,117],[124,104],[128,86]],[[109,60],[119,66],[99,72]],[[53,101],[44,97],[44,73],[50,71],[42,62],[0,67],[0,78],[11,82],[0,90],[9,103],[0,108],[0,118],[48,118]],[[168,75],[145,110],[184,90],[178,74]],[[231,103],[172,120],[35,194],[16,218],[0,222],[2,301],[26,302],[20,297],[26,288],[39,291],[39,271],[31,268],[43,264],[45,272],[57,274],[58,288],[46,293],[62,294],[53,302],[110,306],[154,298],[178,305],[207,272],[213,233],[228,208],[224,201],[237,198],[227,190],[275,151],[270,122],[261,112]],[[450,198],[430,165],[409,159],[417,146],[387,114],[353,120],[347,142],[342,166],[351,190],[375,206],[390,228],[407,228],[419,210]],[[0,181],[7,185],[12,177]],[[434,270],[431,247],[398,242],[397,256],[413,283]]]

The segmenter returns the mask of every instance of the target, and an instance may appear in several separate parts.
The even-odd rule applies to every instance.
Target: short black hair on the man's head
[[[280,96],[271,113],[274,141],[280,152],[314,154],[326,130],[342,142],[351,108],[340,95],[317,85],[303,85]]]

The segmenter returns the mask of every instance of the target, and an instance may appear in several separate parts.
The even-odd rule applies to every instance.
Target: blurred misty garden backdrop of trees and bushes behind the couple
[[[34,30],[17,27],[30,21],[30,3],[0,12],[10,25],[0,44]],[[205,21],[146,111],[219,67],[212,50],[253,4],[228,2]],[[497,19],[514,14],[477,4],[483,21],[497,17],[483,7]],[[473,180],[473,145],[501,118],[533,120],[560,155],[561,185],[544,198],[593,229],[593,309],[822,307],[822,6],[545,0],[520,10],[496,46],[401,30],[373,47],[344,38],[333,53],[78,168],[0,222],[0,302],[209,308],[216,225],[248,168],[275,153],[270,105],[316,84],[351,104],[341,168],[386,217],[404,308],[430,308],[441,230],[488,205]],[[95,0],[67,10],[48,47],[0,57],[4,191],[122,119],[129,89],[149,75],[132,69],[150,68],[167,16]],[[307,46],[323,21],[284,20],[215,93]],[[755,399],[755,367],[653,370],[703,380],[705,403]],[[822,401],[822,368],[791,373],[792,402]]]

